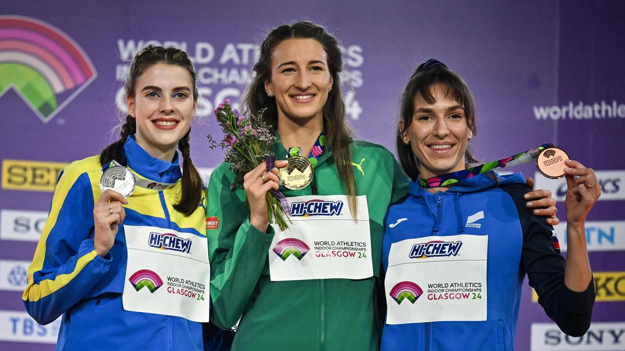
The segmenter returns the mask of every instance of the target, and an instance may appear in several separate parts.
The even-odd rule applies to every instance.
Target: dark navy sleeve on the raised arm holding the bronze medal
[[[580,337],[590,327],[594,304],[594,279],[583,292],[574,292],[564,284],[566,260],[554,247],[553,227],[544,217],[532,214],[525,206],[525,185],[506,187],[519,212],[523,230],[521,268],[527,273],[529,285],[538,294],[538,303],[562,332]]]

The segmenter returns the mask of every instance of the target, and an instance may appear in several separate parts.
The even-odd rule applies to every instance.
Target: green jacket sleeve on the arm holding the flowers
[[[230,190],[230,165],[220,164],[211,174],[206,216],[217,217],[216,229],[207,229],[211,262],[211,321],[222,329],[236,324],[260,279],[274,236],[249,223],[244,190]],[[213,226],[214,227],[214,226]]]

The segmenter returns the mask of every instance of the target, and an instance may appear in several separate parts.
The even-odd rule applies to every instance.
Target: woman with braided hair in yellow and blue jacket
[[[196,71],[186,52],[147,46],[125,90],[119,140],[59,177],[24,304],[40,324],[63,315],[57,350],[134,349],[135,341],[202,350],[210,273],[206,197],[189,154]],[[126,172],[114,181],[134,190],[101,190],[111,169]]]

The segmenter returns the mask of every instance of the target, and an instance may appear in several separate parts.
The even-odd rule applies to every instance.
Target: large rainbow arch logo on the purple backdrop
[[[47,123],[97,76],[83,49],[60,29],[0,16],[0,97],[14,89]]]

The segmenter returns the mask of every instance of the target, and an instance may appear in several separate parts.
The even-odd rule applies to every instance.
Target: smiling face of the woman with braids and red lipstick
[[[146,69],[134,88],[135,96],[126,97],[126,104],[136,118],[137,144],[171,162],[197,107],[191,75],[184,67],[159,63]]]

